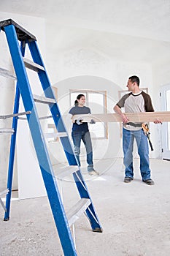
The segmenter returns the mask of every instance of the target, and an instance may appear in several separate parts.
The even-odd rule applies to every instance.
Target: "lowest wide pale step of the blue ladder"
[[[85,210],[90,206],[89,198],[81,198],[67,213],[66,217],[69,222],[69,226],[72,226],[77,219],[85,212]]]

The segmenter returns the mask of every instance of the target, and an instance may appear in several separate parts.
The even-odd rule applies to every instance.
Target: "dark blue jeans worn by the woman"
[[[80,165],[80,145],[81,140],[85,144],[86,154],[87,154],[87,162],[88,162],[88,171],[93,170],[93,151],[92,144],[90,138],[90,132],[76,132],[72,131],[72,139],[74,143],[74,154],[77,157],[77,161]]]

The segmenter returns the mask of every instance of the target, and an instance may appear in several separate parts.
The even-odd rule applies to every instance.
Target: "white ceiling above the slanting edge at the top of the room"
[[[170,42],[170,0],[1,0],[0,12]]]

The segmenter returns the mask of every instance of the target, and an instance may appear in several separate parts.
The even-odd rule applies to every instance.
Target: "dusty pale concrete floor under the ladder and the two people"
[[[155,186],[142,183],[139,159],[134,163],[131,184],[123,183],[122,159],[96,161],[96,169],[102,173],[98,178],[90,178],[82,167],[104,232],[91,232],[83,215],[75,225],[78,255],[169,256],[170,162],[150,160]],[[78,198],[77,191],[71,193],[72,181],[62,184],[68,208]],[[12,200],[9,222],[3,216],[0,208],[1,256],[63,255],[47,197]]]

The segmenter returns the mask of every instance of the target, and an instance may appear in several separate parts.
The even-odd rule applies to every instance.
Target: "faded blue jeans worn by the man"
[[[123,153],[125,165],[125,177],[134,178],[133,148],[134,138],[136,139],[138,154],[140,157],[140,171],[142,180],[150,179],[150,159],[147,136],[142,129],[129,131],[123,128]]]

